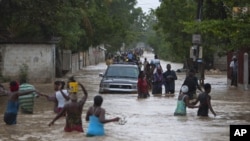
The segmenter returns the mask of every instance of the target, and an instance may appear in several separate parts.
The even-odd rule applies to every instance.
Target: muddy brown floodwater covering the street
[[[153,54],[145,54],[150,61]],[[144,58],[141,58],[142,61]],[[163,70],[171,62],[161,61]],[[182,64],[171,63],[172,69],[182,68]],[[89,97],[83,108],[83,129],[88,123],[85,114],[93,104],[93,97],[98,94],[99,73],[104,72],[104,63],[88,66],[75,74],[77,81],[87,89]],[[108,123],[105,125],[106,136],[85,137],[85,133],[65,133],[65,118],[60,118],[51,127],[49,122],[55,117],[53,103],[44,97],[35,100],[34,114],[19,112],[17,124],[7,126],[3,122],[7,97],[0,97],[0,141],[229,141],[229,125],[250,124],[250,92],[229,88],[226,74],[205,76],[205,83],[212,86],[211,103],[217,116],[209,112],[208,118],[197,117],[197,109],[187,109],[187,116],[173,116],[177,96],[184,81],[185,73],[177,73],[174,97],[150,96],[137,99],[137,94],[102,94],[106,118],[116,116],[125,118],[127,123]],[[66,80],[66,78],[65,78]],[[38,91],[53,94],[53,84],[37,84]],[[164,88],[164,87],[163,87]],[[164,91],[164,90],[163,90]],[[151,94],[151,93],[150,93]],[[83,94],[79,93],[79,97]]]

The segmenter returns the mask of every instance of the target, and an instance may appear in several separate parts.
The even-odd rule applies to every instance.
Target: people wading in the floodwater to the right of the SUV
[[[150,96],[150,91],[154,96],[161,96],[162,86],[165,87],[166,96],[175,95],[175,81],[177,80],[177,75],[174,70],[171,69],[171,64],[166,65],[166,71],[160,64],[158,56],[150,62],[147,58],[143,62],[144,69],[140,70],[138,75],[138,98],[147,98]],[[186,115],[186,107],[188,108],[198,108],[198,116],[208,116],[209,110],[216,116],[212,106],[211,106],[211,84],[206,83],[202,87],[198,83],[198,78],[195,76],[195,69],[190,69],[184,82],[182,83],[181,89],[178,95],[177,106],[174,115]],[[197,90],[200,93],[197,95]],[[195,106],[197,103],[199,106]]]

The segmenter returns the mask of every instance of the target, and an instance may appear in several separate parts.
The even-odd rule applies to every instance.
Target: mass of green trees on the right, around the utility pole
[[[202,36],[204,58],[209,58],[215,52],[225,55],[228,51],[249,46],[249,13],[239,12],[233,17],[232,11],[233,7],[249,7],[247,0],[203,0],[201,22],[195,20],[197,3],[198,0],[162,1],[156,10],[156,31],[162,32],[159,35],[163,35],[168,44],[165,49],[156,46],[158,53],[187,57],[191,35],[195,33]]]

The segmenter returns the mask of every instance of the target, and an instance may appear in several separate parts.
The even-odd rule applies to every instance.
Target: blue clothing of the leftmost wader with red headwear
[[[18,101],[9,100],[4,113],[4,122],[8,125],[16,124],[17,113],[19,109]]]

